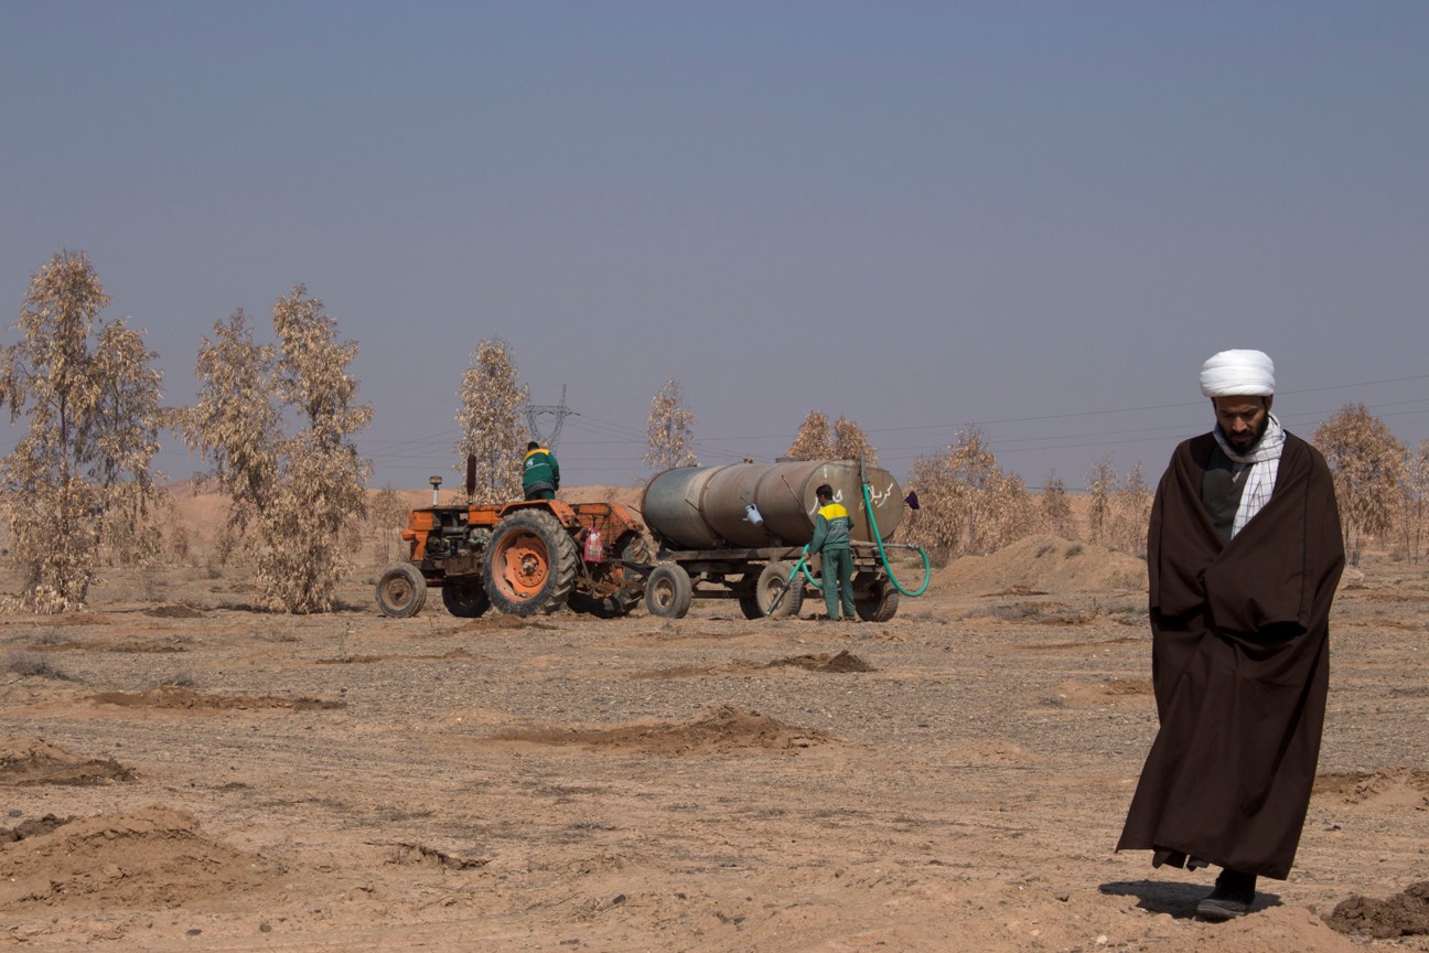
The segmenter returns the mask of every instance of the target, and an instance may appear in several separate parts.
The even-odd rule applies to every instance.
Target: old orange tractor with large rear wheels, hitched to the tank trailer
[[[644,527],[617,503],[472,503],[474,461],[467,461],[464,504],[433,503],[407,514],[406,563],[377,580],[382,614],[422,612],[427,589],[440,589],[453,616],[476,617],[496,606],[512,616],[576,612],[623,616],[644,594],[649,544]]]

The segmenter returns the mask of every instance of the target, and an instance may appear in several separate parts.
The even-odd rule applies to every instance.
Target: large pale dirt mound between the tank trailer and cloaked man
[[[933,584],[969,596],[1145,589],[1146,562],[1060,536],[1029,536],[990,556],[953,560]]]

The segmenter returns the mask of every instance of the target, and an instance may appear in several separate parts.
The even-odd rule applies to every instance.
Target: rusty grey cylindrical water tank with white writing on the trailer
[[[862,469],[862,474],[860,474]],[[873,522],[887,540],[903,519],[903,493],[893,476],[857,460],[789,460],[677,467],[644,487],[640,513],[663,547],[703,550],[803,546],[813,539],[815,490],[833,487],[853,520],[855,543],[873,543],[863,502],[869,483]]]

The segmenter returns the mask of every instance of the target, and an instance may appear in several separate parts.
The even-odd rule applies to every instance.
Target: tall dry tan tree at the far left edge
[[[154,547],[149,470],[166,413],[143,334],[101,321],[109,296],[84,253],[60,251],[31,279],[0,350],[0,404],[27,433],[0,460],[10,549],[23,583],[6,607],[80,609],[111,539],[123,560]],[[16,504],[17,503],[17,504]]]

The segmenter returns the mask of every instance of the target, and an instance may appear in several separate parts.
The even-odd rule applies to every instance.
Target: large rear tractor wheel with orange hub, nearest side
[[[509,616],[550,614],[576,584],[576,540],[544,510],[519,510],[496,524],[482,579],[492,604]]]

